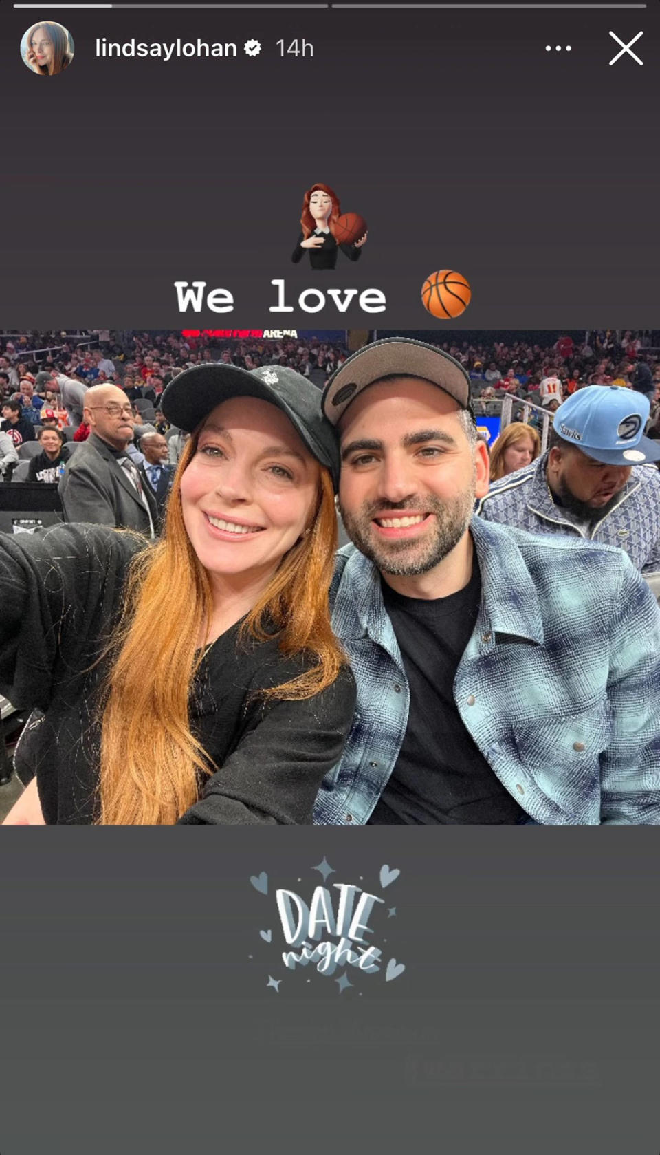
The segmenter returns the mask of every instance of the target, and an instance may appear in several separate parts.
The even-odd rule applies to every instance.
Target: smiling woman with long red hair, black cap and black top
[[[340,757],[354,683],[328,610],[339,459],[318,390],[202,365],[163,412],[192,437],[160,542],[2,535],[0,692],[40,711],[10,824],[310,824]]]

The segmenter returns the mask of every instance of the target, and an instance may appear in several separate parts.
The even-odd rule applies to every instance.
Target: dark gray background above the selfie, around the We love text
[[[658,325],[660,7],[279,13],[72,12],[70,69],[39,79],[1,9],[5,323],[342,327],[270,314],[271,280],[382,289],[346,323],[438,328],[425,278],[463,273],[468,328]],[[639,67],[609,37],[644,36]],[[103,60],[95,38],[245,40],[235,60]],[[282,59],[276,40],[314,43]],[[546,44],[553,45],[546,52]],[[572,51],[554,51],[570,44]],[[322,180],[369,238],[333,273],[291,263]],[[177,310],[173,282],[233,291],[230,314]],[[457,322],[448,322],[452,328]]]

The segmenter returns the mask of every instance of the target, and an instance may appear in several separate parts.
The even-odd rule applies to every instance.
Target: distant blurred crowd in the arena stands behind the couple
[[[455,335],[455,340],[437,343],[467,370],[477,413],[500,412],[505,396],[553,412],[585,386],[620,385],[650,396],[647,432],[660,437],[660,334],[602,330],[583,336],[579,341],[548,333],[543,343],[533,344],[523,334],[510,343],[460,341]],[[305,336],[270,340],[248,334],[226,338],[205,333],[183,336],[113,330],[3,334],[0,430],[15,446],[33,440],[42,425],[65,431],[74,426],[73,439],[83,441],[89,433],[82,422],[84,389],[107,382],[123,389],[134,407],[137,403],[137,444],[145,432],[168,432],[158,408],[160,395],[173,377],[193,365],[224,362],[247,370],[287,365],[322,388],[348,356],[345,343]],[[513,419],[523,419],[522,407],[515,408]],[[532,427],[541,427],[542,420],[533,411],[527,419]],[[183,440],[170,438],[172,464],[179,460]]]

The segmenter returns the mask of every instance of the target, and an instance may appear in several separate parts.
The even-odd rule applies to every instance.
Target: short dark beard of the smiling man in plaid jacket
[[[405,501],[365,505],[360,513],[350,514],[339,505],[344,528],[365,557],[384,574],[393,578],[417,578],[428,573],[451,553],[465,534],[474,508],[474,485],[452,501],[438,498],[406,498]],[[392,517],[414,509],[435,515],[435,524],[425,528],[420,538],[404,537],[376,541],[372,527],[374,517]]]

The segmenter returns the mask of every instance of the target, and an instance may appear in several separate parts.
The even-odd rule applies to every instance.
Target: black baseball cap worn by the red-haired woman
[[[224,362],[194,365],[170,381],[160,409],[172,425],[192,433],[230,397],[258,397],[282,409],[310,454],[330,470],[337,491],[339,446],[335,430],[323,419],[320,390],[285,365],[253,370]]]

